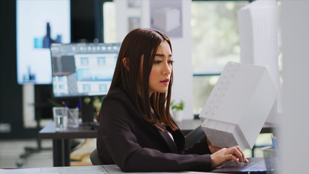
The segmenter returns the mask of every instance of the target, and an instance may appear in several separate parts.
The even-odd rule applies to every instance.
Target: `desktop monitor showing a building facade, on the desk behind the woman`
[[[120,43],[51,44],[54,96],[107,94],[120,46]]]

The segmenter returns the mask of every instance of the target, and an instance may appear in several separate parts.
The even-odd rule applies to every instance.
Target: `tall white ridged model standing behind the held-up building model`
[[[278,16],[276,0],[255,0],[237,11],[240,62],[268,67],[277,88],[278,99],[266,119],[266,122],[274,124],[278,123],[277,120],[282,114],[278,64]]]

